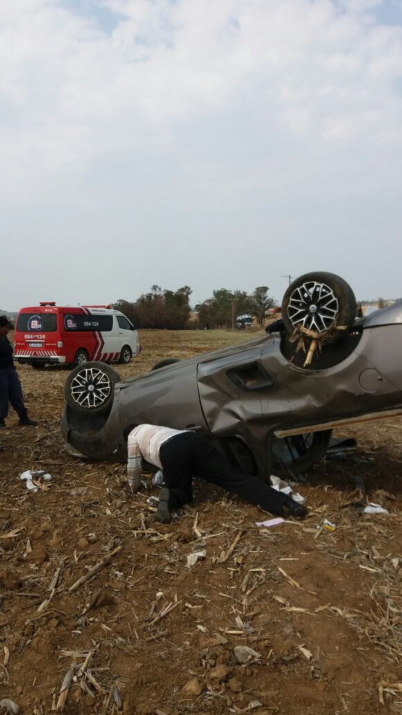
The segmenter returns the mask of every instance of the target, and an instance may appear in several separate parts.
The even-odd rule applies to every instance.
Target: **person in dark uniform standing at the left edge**
[[[37,425],[29,419],[19,376],[14,368],[13,348],[7,337],[7,333],[13,327],[6,315],[0,315],[0,430],[6,429],[4,418],[9,414],[9,403],[19,415],[20,425],[27,427]]]

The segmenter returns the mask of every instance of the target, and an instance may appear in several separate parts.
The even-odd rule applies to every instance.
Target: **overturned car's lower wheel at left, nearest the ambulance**
[[[64,385],[64,397],[77,415],[104,415],[114,400],[114,385],[121,382],[117,370],[90,360],[71,370]]]

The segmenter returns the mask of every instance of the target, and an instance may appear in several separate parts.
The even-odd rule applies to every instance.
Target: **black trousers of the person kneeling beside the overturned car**
[[[198,432],[176,435],[161,445],[159,458],[164,482],[169,489],[169,508],[175,509],[193,498],[191,477],[238,494],[246,501],[273,514],[281,512],[286,495],[273,489],[255,474],[236,472],[228,458]]]

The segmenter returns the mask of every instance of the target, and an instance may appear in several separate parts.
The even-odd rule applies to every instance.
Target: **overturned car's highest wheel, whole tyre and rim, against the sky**
[[[286,290],[282,319],[290,335],[337,342],[356,320],[356,298],[346,280],[334,273],[305,273]]]

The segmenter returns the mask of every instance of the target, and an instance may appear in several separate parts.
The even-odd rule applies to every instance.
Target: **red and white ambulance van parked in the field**
[[[15,358],[33,368],[83,365],[87,360],[129,363],[141,352],[134,325],[110,305],[21,308],[14,333]]]

